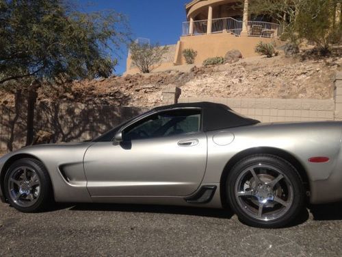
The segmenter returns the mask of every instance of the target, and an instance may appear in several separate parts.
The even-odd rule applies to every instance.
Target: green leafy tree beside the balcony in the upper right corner
[[[282,38],[295,45],[308,40],[326,49],[333,40],[341,40],[341,24],[334,21],[337,3],[341,0],[254,0],[249,11],[272,16],[284,25]]]

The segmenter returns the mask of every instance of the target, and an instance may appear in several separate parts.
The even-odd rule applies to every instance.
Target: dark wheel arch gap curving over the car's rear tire
[[[228,177],[229,172],[234,167],[234,165],[237,164],[237,162],[254,154],[269,154],[287,160],[287,162],[291,163],[293,167],[295,167],[295,169],[298,171],[300,178],[302,179],[302,182],[304,184],[304,190],[306,192],[310,192],[310,184],[308,180],[307,171],[302,165],[302,163],[297,158],[295,158],[295,156],[293,156],[293,154],[290,154],[289,152],[283,149],[278,149],[275,147],[253,147],[250,149],[245,149],[244,151],[240,151],[226,163],[226,166],[224,167],[224,170],[222,171],[222,175],[220,178],[220,197],[222,201],[222,206],[228,207],[228,200],[226,197],[226,179]]]

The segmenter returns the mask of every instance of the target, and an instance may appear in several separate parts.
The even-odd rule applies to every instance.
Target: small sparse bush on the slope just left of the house
[[[167,46],[160,47],[159,44],[150,45],[133,42],[129,49],[133,64],[142,73],[150,73],[159,65],[169,48]]]

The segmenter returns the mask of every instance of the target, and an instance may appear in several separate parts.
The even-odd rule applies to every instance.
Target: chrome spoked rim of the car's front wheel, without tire
[[[8,192],[12,201],[21,207],[36,204],[40,195],[40,179],[31,167],[17,167],[8,179]]]

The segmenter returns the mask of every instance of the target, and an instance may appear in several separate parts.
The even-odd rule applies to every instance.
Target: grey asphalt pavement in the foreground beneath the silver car
[[[59,205],[23,214],[0,204],[0,256],[341,256],[342,204],[289,228],[250,228],[227,210]]]

